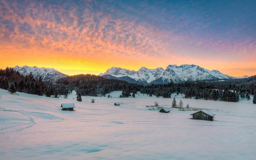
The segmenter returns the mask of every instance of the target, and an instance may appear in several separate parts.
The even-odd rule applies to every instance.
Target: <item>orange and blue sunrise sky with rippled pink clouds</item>
[[[256,75],[255,0],[0,0],[0,68],[196,64]]]

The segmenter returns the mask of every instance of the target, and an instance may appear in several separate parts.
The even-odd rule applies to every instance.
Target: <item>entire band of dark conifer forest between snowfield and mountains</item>
[[[90,74],[68,76],[56,82],[42,81],[41,77],[34,79],[32,73],[23,76],[7,67],[5,70],[0,70],[0,88],[12,93],[18,91],[40,96],[55,95],[55,97],[57,95],[67,96],[72,90],[76,90],[81,96],[105,96],[116,90],[122,90],[120,97],[134,97],[137,91],[149,96],[163,96],[164,98],[171,98],[172,93],[183,93],[185,98],[227,102],[250,99],[250,95],[254,95],[253,102],[256,102],[256,76],[226,81],[193,81],[144,86]]]

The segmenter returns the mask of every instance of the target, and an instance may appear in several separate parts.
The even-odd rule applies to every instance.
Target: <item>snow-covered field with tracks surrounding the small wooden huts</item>
[[[149,110],[170,107],[172,99],[82,96],[76,101],[0,89],[0,160],[255,160],[256,105],[182,99],[206,108],[215,120],[190,119],[194,111]],[[111,96],[119,96],[119,92]],[[74,97],[74,99],[73,99]],[[182,96],[177,96],[179,102]],[[95,103],[90,103],[91,99]],[[114,106],[121,102],[121,106]],[[61,111],[75,103],[75,111]],[[218,110],[216,110],[218,108]]]

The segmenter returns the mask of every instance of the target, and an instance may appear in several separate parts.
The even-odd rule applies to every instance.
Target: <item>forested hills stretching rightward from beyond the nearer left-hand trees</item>
[[[57,81],[55,88],[58,94],[67,94],[69,90],[77,90],[82,96],[99,96],[114,90],[122,90],[120,97],[131,96],[130,93],[141,93],[170,98],[172,93],[183,93],[185,98],[220,100],[238,102],[239,99],[250,99],[255,94],[255,76],[248,79],[217,82],[184,82],[179,84],[139,85],[126,81],[104,79],[95,75],[69,76]]]

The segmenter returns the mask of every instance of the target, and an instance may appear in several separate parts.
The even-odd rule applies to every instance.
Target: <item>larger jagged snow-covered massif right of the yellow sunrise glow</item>
[[[124,80],[124,77],[130,77],[136,83],[141,84],[166,84],[169,82],[178,83],[181,81],[234,79],[234,77],[225,75],[218,70],[207,70],[194,64],[182,64],[180,66],[168,65],[165,70],[162,67],[157,69],[141,67],[138,71],[111,67],[99,76],[119,80]],[[129,81],[131,81],[131,79],[129,79]]]

